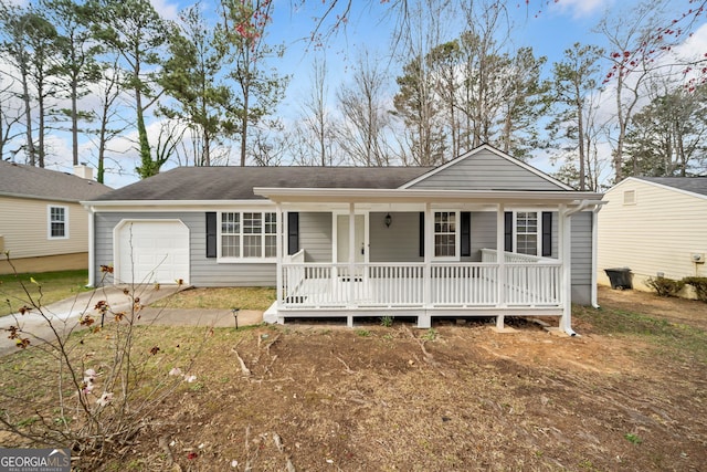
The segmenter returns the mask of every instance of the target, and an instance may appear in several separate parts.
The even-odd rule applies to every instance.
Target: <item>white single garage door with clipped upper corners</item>
[[[116,249],[119,283],[189,283],[189,228],[181,221],[126,221]]]

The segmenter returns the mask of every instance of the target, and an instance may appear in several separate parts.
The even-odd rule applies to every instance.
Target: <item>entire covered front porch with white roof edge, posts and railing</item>
[[[429,328],[435,317],[495,317],[503,329],[506,316],[557,316],[574,334],[571,219],[588,210],[581,222],[591,228],[595,201],[574,192],[256,192],[283,216],[267,322],[400,316]]]

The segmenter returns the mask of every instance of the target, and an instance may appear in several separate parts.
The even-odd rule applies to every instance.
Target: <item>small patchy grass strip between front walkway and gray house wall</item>
[[[188,289],[161,298],[152,307],[240,308],[264,312],[275,302],[273,287]]]

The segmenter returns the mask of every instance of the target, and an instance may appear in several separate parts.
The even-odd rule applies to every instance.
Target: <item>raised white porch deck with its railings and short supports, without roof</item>
[[[556,259],[484,249],[473,263],[305,263],[304,251],[283,263],[277,322],[287,317],[413,316],[497,318],[561,316],[561,263]]]

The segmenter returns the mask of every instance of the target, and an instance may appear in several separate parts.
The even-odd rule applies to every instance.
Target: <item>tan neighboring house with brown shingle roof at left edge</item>
[[[0,274],[88,268],[88,213],[81,200],[112,190],[92,179],[0,160]]]

